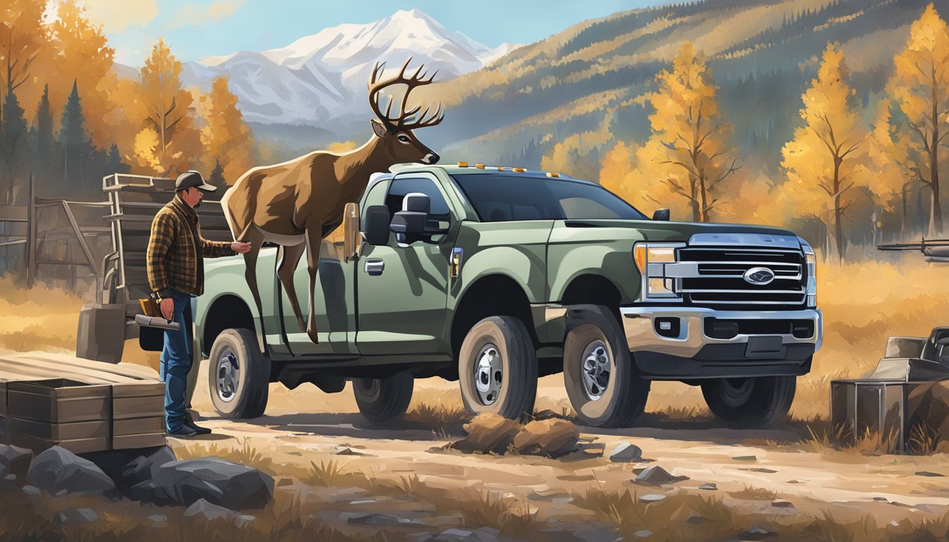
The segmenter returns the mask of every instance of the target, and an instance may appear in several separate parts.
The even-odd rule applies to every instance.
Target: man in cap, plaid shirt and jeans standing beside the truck
[[[208,241],[201,237],[195,207],[206,192],[216,187],[204,182],[192,170],[175,181],[175,198],[158,211],[152,221],[152,234],[145,254],[148,284],[161,300],[161,315],[178,323],[178,329],[165,330],[161,350],[161,380],[165,383],[165,432],[172,437],[194,437],[211,433],[185,416],[185,388],[191,368],[192,344],[187,320],[191,320],[191,298],[204,291],[203,257],[244,253],[251,243]]]

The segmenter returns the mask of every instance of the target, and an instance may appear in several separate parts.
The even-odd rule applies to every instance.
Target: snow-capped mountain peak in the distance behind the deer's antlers
[[[182,65],[182,82],[210,88],[229,78],[248,121],[323,124],[368,112],[366,82],[376,62],[394,73],[412,57],[445,81],[480,69],[507,54],[511,44],[487,47],[441,26],[419,9],[400,10],[368,25],[340,25],[287,47],[238,51]],[[392,70],[392,71],[389,71]]]

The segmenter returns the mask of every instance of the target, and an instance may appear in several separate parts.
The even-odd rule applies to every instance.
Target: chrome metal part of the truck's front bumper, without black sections
[[[781,337],[783,345],[814,345],[816,352],[824,339],[823,316],[819,308],[806,310],[716,310],[698,307],[623,307],[623,331],[626,344],[632,352],[657,352],[680,358],[692,358],[708,345],[747,344],[754,334],[739,333],[730,339],[716,339],[705,335],[706,318],[722,320],[812,320],[813,336],[801,339],[786,334],[763,334]],[[655,318],[679,318],[679,335],[663,337],[655,327]]]

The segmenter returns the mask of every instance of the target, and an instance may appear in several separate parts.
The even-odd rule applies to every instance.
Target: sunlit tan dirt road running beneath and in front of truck
[[[583,428],[583,437],[592,440],[587,447],[599,447],[605,456],[463,455],[441,449],[454,436],[398,424],[369,425],[358,414],[348,389],[326,395],[308,384],[307,388],[288,392],[274,384],[266,416],[254,421],[215,420],[207,399],[199,394],[195,407],[208,413],[209,420],[203,423],[214,429],[214,435],[178,441],[175,446],[195,451],[250,447],[268,458],[274,469],[299,477],[305,476],[311,463],[325,461],[335,461],[344,472],[397,482],[418,476],[430,487],[511,496],[537,511],[539,521],[604,519],[608,514],[591,513],[589,506],[578,506],[575,497],[598,491],[622,495],[626,490],[640,497],[715,497],[751,523],[829,517],[844,524],[870,517],[885,529],[949,512],[949,477],[945,477],[949,465],[944,455],[865,456],[834,451],[802,438],[806,430],[792,423],[739,431],[709,419],[662,421],[647,416],[642,426],[632,429]],[[665,389],[659,386],[657,393]],[[677,389],[680,393],[680,385]],[[414,402],[419,398],[456,401],[456,393],[454,383],[419,381]],[[556,409],[566,404],[558,377],[544,379],[538,395],[543,398],[539,407]],[[683,395],[683,402],[695,399],[694,394]],[[643,460],[611,462],[609,452],[621,442],[641,447]],[[685,478],[659,486],[631,481],[650,465]]]

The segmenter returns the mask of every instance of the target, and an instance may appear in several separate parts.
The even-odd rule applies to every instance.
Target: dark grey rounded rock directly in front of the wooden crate
[[[102,493],[115,489],[115,482],[92,461],[60,446],[53,446],[29,464],[27,481],[51,494]]]

